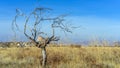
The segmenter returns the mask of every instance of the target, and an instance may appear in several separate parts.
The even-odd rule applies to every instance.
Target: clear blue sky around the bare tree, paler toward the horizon
[[[58,15],[69,14],[67,20],[81,26],[69,34],[70,42],[120,40],[120,0],[0,0],[0,41],[12,37],[11,22],[16,8],[29,13],[38,6],[52,8]]]

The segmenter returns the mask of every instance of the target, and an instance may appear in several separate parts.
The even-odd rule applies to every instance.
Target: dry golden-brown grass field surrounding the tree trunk
[[[120,68],[119,47],[47,47],[48,68]],[[41,68],[36,47],[0,48],[0,68]]]

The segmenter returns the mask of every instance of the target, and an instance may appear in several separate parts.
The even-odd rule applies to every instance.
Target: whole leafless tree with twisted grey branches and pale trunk
[[[24,35],[31,40],[36,47],[41,48],[42,50],[42,66],[46,66],[47,62],[47,55],[46,55],[46,46],[50,44],[52,41],[58,41],[60,38],[55,36],[56,29],[61,29],[64,32],[72,33],[72,31],[69,28],[72,28],[69,26],[69,28],[64,23],[64,17],[66,15],[60,15],[57,17],[51,17],[46,16],[48,13],[50,13],[51,9],[49,8],[35,8],[29,15],[25,15],[21,10],[16,9],[16,16],[12,22],[12,29],[15,32],[16,30],[19,31],[19,25],[16,22],[18,17],[23,17],[25,19],[24,23]],[[34,22],[32,23],[32,27],[29,26],[31,23],[29,23],[31,20],[34,19]],[[43,23],[49,23],[51,29],[51,35],[48,35],[46,31],[41,30],[41,26]],[[46,26],[44,26],[46,27]]]

